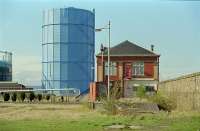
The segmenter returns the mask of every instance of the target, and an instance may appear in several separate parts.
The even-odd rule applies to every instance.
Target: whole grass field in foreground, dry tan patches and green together
[[[107,116],[81,104],[0,103],[0,131],[101,131],[113,124],[141,126],[137,131],[200,131],[200,113]]]

